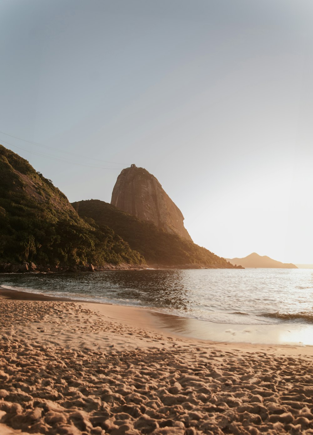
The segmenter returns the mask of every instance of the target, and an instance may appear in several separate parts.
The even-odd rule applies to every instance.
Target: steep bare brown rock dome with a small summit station
[[[156,177],[142,167],[123,169],[113,188],[111,204],[136,216],[141,221],[152,222],[169,234],[192,241],[183,225],[183,214],[163,190]]]

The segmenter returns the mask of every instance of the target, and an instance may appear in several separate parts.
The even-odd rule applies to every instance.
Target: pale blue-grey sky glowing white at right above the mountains
[[[1,0],[0,144],[68,199],[145,167],[193,241],[313,263],[312,0]]]

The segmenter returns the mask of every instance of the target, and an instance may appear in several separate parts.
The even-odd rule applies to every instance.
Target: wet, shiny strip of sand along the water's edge
[[[157,311],[153,307],[134,307],[110,302],[86,301],[75,298],[59,298],[40,293],[6,289],[0,286],[0,298],[20,301],[67,301],[90,305],[109,305],[112,312],[122,311],[125,318],[135,313],[149,320],[150,328],[185,339],[207,340],[213,343],[233,343],[265,346],[296,346],[313,348],[313,325],[311,324],[228,324],[209,320],[183,317]],[[118,308],[114,308],[118,307]],[[107,312],[105,313],[107,314]],[[119,318],[123,321],[123,318]],[[269,338],[270,337],[270,338]]]

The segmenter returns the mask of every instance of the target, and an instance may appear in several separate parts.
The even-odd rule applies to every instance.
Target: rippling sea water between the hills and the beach
[[[313,324],[311,269],[1,274],[0,285],[231,325]]]

